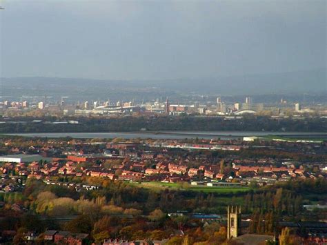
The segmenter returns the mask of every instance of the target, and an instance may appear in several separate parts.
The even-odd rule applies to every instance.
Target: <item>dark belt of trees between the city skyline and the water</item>
[[[170,117],[117,117],[110,119],[79,118],[79,124],[53,125],[34,123],[1,124],[1,133],[36,133],[36,132],[106,132],[132,131],[140,128],[148,130],[265,130],[278,131],[327,131],[326,119],[308,118],[306,121],[283,119],[275,120],[265,116],[246,115],[239,120],[224,120],[221,117],[180,116]]]

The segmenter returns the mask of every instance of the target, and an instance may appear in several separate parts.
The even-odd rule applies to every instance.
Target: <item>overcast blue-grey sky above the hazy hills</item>
[[[326,1],[0,0],[2,77],[177,79],[326,68]]]

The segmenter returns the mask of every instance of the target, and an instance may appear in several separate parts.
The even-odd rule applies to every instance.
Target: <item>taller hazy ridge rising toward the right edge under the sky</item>
[[[327,92],[326,70],[242,75],[175,82],[177,89],[237,94]]]

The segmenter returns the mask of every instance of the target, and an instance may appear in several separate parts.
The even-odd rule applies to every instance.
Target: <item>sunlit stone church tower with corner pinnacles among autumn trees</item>
[[[241,207],[228,206],[227,209],[227,239],[238,237],[241,233]]]

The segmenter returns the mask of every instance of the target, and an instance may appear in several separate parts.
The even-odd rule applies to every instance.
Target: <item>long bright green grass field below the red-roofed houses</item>
[[[211,187],[211,186],[191,186],[190,184],[176,184],[176,183],[163,183],[163,182],[132,182],[130,183],[133,186],[141,188],[149,188],[152,190],[163,190],[165,188],[175,189],[175,190],[192,190],[192,191],[201,191],[204,193],[238,193],[246,192],[250,190],[248,187],[230,187],[230,186],[221,186],[221,187]]]

